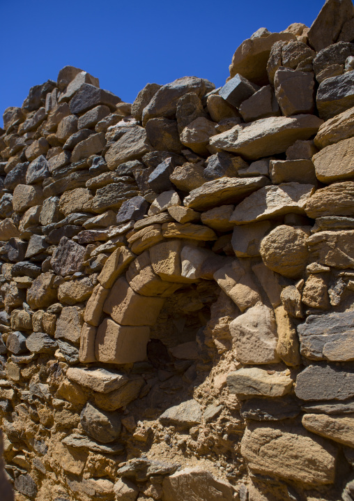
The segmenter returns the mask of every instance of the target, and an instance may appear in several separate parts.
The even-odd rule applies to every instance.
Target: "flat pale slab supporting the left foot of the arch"
[[[109,393],[109,391],[120,388],[128,381],[128,376],[125,374],[107,371],[107,369],[102,368],[70,367],[66,372],[66,376],[71,381],[100,393]]]

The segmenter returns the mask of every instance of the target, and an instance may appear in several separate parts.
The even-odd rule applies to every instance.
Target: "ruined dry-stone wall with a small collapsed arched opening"
[[[328,0],[220,89],[66,66],[4,112],[17,501],[354,500],[353,42]]]

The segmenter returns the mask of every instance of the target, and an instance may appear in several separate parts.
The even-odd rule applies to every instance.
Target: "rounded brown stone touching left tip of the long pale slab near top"
[[[187,125],[180,134],[180,142],[199,155],[208,154],[209,138],[215,135],[215,123],[199,117]]]

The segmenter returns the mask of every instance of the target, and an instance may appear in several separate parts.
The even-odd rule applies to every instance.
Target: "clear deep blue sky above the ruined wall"
[[[205,77],[217,87],[259,29],[307,26],[324,0],[0,0],[0,114],[68,64],[132,102],[147,82]],[[0,120],[0,124],[2,121]]]

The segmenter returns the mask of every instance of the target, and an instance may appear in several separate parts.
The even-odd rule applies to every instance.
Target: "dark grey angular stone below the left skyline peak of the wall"
[[[70,112],[80,114],[98,105],[107,105],[113,111],[118,103],[121,103],[121,99],[111,92],[91,84],[82,84],[70,101]]]

